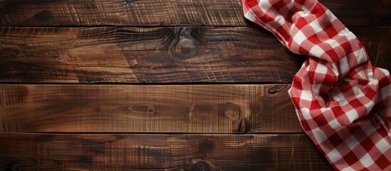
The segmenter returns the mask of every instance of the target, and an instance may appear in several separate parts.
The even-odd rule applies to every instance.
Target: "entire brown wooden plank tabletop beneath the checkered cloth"
[[[320,0],[391,70],[391,1]],[[332,170],[241,0],[0,1],[0,170]]]

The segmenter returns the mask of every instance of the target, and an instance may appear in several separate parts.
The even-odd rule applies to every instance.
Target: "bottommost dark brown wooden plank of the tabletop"
[[[19,170],[332,170],[306,135],[0,133],[0,139],[0,168]]]

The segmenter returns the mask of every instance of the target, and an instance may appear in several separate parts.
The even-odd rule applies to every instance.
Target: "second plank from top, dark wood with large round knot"
[[[391,69],[391,27],[352,28]],[[0,27],[0,82],[291,83],[303,58],[263,28]]]

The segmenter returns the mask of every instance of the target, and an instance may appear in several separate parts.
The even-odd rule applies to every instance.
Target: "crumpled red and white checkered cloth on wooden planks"
[[[391,170],[391,76],[315,0],[243,0],[244,16],[309,58],[288,91],[301,126],[336,170]]]

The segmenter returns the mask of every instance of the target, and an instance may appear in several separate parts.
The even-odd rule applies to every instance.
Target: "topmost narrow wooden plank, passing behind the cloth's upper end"
[[[320,0],[348,26],[391,26],[389,0]],[[241,0],[0,1],[1,26],[254,26]]]

